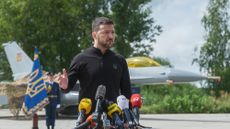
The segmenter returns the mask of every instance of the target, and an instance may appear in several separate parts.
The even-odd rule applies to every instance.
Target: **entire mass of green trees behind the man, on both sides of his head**
[[[114,49],[125,57],[137,53],[146,55],[152,45],[140,42],[152,43],[161,30],[149,17],[151,12],[145,7],[148,2],[150,0],[0,1],[0,43],[16,41],[30,57],[37,46],[43,69],[57,72],[68,68],[74,55],[91,46],[92,20],[107,16],[115,21],[117,30]],[[141,51],[136,51],[139,49]],[[2,46],[0,55],[4,56]]]

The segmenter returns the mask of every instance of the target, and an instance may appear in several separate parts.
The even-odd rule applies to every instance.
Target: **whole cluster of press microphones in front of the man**
[[[105,99],[106,87],[100,85],[95,94],[96,106],[91,115],[91,99],[83,98],[80,101],[78,110],[79,116],[75,129],[83,128],[130,128],[142,127],[139,124],[139,109],[142,106],[141,96],[133,94],[130,101],[124,96],[117,97],[117,103]],[[88,116],[86,119],[85,117]],[[122,116],[122,117],[121,117]],[[109,117],[109,119],[107,119]]]

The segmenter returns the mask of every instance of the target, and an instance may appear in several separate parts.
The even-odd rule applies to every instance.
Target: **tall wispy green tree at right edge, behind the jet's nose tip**
[[[221,75],[226,79],[226,72],[230,70],[230,30],[229,30],[229,1],[210,0],[207,14],[202,18],[202,23],[207,32],[205,44],[200,49],[199,58],[194,59],[200,65],[201,70],[210,75]],[[224,80],[225,84],[227,80]],[[230,81],[228,79],[228,81]],[[230,91],[229,85],[222,83],[217,87],[215,83],[209,83],[216,90]]]

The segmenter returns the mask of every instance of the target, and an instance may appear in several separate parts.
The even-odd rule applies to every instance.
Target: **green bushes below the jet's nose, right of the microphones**
[[[228,99],[209,96],[205,89],[191,84],[147,85],[141,87],[141,113],[213,113],[230,112]]]

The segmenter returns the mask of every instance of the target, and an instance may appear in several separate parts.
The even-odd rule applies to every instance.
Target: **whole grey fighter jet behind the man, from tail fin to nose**
[[[29,58],[16,42],[4,43],[3,46],[13,72],[14,80],[22,80],[27,77],[31,73],[33,66],[31,58]],[[127,64],[131,83],[138,85],[172,84],[201,81],[204,79],[220,79],[219,77],[208,77],[198,73],[161,66],[158,62],[147,57],[128,58]],[[61,109],[59,109],[59,111],[67,107],[76,107],[79,95],[78,88],[76,87],[69,93],[61,93]],[[74,108],[74,110],[75,109],[76,108]]]

